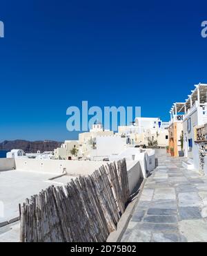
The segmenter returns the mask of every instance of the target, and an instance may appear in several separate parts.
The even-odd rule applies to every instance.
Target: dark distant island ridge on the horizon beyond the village
[[[53,151],[61,146],[61,142],[53,140],[4,140],[0,143],[0,150],[10,151],[11,149],[22,149],[26,153]]]

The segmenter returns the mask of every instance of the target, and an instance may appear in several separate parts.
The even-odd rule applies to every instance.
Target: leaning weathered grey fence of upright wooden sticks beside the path
[[[126,161],[101,166],[20,205],[20,241],[106,241],[130,196]]]

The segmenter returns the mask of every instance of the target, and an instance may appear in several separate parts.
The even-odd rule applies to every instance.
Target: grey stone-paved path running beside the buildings
[[[148,177],[121,241],[207,241],[207,177],[181,165],[164,149]]]

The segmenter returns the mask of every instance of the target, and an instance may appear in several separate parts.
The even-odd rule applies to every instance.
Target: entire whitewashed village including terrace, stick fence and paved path
[[[0,241],[207,241],[206,95],[196,84],[169,122],[137,117],[115,133],[96,121],[54,151],[12,149],[0,159]]]

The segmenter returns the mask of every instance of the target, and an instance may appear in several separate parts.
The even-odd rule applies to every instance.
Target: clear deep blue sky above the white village
[[[205,1],[1,1],[0,140],[64,140],[66,109],[141,106],[169,119],[207,83]]]

